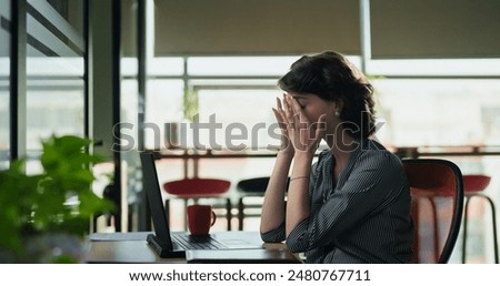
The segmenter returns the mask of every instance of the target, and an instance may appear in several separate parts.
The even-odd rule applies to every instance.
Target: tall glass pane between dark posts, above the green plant
[[[37,156],[51,134],[84,133],[83,10],[83,1],[28,1],[29,155]],[[28,167],[34,171],[37,163]]]

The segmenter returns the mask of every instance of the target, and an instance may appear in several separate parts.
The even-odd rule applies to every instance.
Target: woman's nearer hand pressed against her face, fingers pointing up
[[[296,99],[284,95],[284,122],[289,141],[294,152],[314,153],[326,133],[326,114],[311,122],[304,114]]]

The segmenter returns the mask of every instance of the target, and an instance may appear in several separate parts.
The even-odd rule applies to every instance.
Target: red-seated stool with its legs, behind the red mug
[[[188,202],[192,200],[198,203],[200,198],[224,198],[226,204],[222,208],[226,210],[226,218],[228,219],[228,231],[231,231],[231,200],[223,197],[229,191],[231,182],[221,178],[182,178],[178,181],[171,181],[163,184],[163,190],[172,195],[174,198],[181,198],[184,201],[184,210],[188,206]],[[166,212],[170,212],[170,198],[164,201]],[[220,210],[220,205],[212,205],[212,208]],[[170,217],[170,216],[169,216]],[[184,219],[184,229],[186,229]]]

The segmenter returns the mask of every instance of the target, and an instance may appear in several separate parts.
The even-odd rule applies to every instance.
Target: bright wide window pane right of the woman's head
[[[494,145],[500,143],[500,81],[487,79],[376,80],[377,134],[394,146]]]

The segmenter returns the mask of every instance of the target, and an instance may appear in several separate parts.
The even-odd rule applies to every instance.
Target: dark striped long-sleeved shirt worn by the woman
[[[310,174],[311,215],[292,229],[287,246],[307,263],[410,263],[411,196],[401,161],[364,140],[333,185],[334,157],[323,151]],[[282,242],[284,222],[261,234]]]

